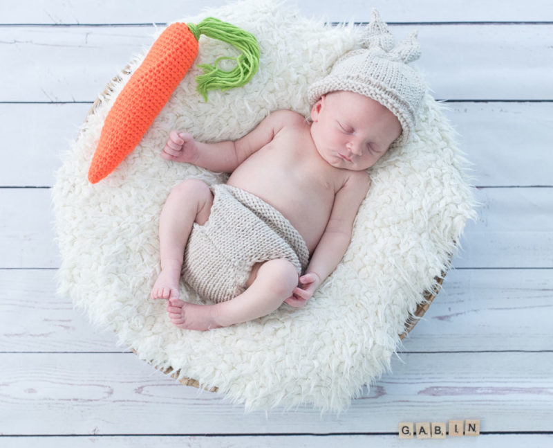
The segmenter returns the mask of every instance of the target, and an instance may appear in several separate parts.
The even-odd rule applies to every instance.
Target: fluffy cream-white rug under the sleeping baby
[[[308,85],[354,48],[361,33],[355,26],[304,19],[288,4],[259,0],[179,21],[209,15],[257,37],[259,72],[245,87],[212,91],[204,102],[195,91],[200,70],[194,66],[140,145],[109,177],[91,185],[86,174],[102,123],[129,79],[128,73],[120,75],[84,121],[57,172],[59,292],[86,310],[93,323],[115,331],[140,359],[171,366],[202,386],[217,386],[245,409],[309,404],[341,411],[362,386],[389,369],[406,320],[435,276],[447,270],[474,213],[464,160],[440,105],[427,96],[413,141],[372,169],[353,241],[305,308],[283,305],[262,319],[208,332],[174,327],[165,301],[149,298],[159,269],[160,210],[182,179],[214,183],[225,177],[161,159],[169,131],[187,129],[200,141],[220,141],[243,136],[275,109],[307,116]],[[232,51],[202,37],[196,64]],[[130,71],[143,57],[130,63]],[[184,284],[180,294],[198,303]]]

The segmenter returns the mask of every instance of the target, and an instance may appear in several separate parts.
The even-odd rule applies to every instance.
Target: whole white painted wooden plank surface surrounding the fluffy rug
[[[0,447],[396,447],[411,443],[400,421],[464,418],[480,418],[482,435],[442,443],[552,446],[549,0],[372,2],[397,35],[420,30],[419,65],[449,100],[482,205],[393,373],[347,413],[244,415],[143,364],[55,295],[59,155],[106,82],[151,44],[151,24],[200,3],[0,2]],[[330,21],[369,18],[360,0],[298,3]]]

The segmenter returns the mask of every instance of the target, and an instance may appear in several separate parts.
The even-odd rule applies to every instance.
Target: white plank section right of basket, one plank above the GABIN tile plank
[[[403,350],[551,350],[552,274],[551,269],[451,269]]]

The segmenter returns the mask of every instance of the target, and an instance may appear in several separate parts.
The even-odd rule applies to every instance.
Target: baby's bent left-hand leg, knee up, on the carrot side
[[[160,215],[161,273],[151,290],[152,298],[178,298],[180,269],[192,224],[204,224],[212,204],[211,190],[198,179],[187,179],[171,190]]]

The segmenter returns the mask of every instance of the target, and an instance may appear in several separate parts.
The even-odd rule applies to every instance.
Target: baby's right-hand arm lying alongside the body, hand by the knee
[[[287,298],[286,303],[295,307],[303,306],[336,269],[350,244],[353,222],[370,183],[365,171],[352,172],[338,190],[326,229],[313,252],[306,274],[299,279],[301,287],[294,289],[293,296]]]

